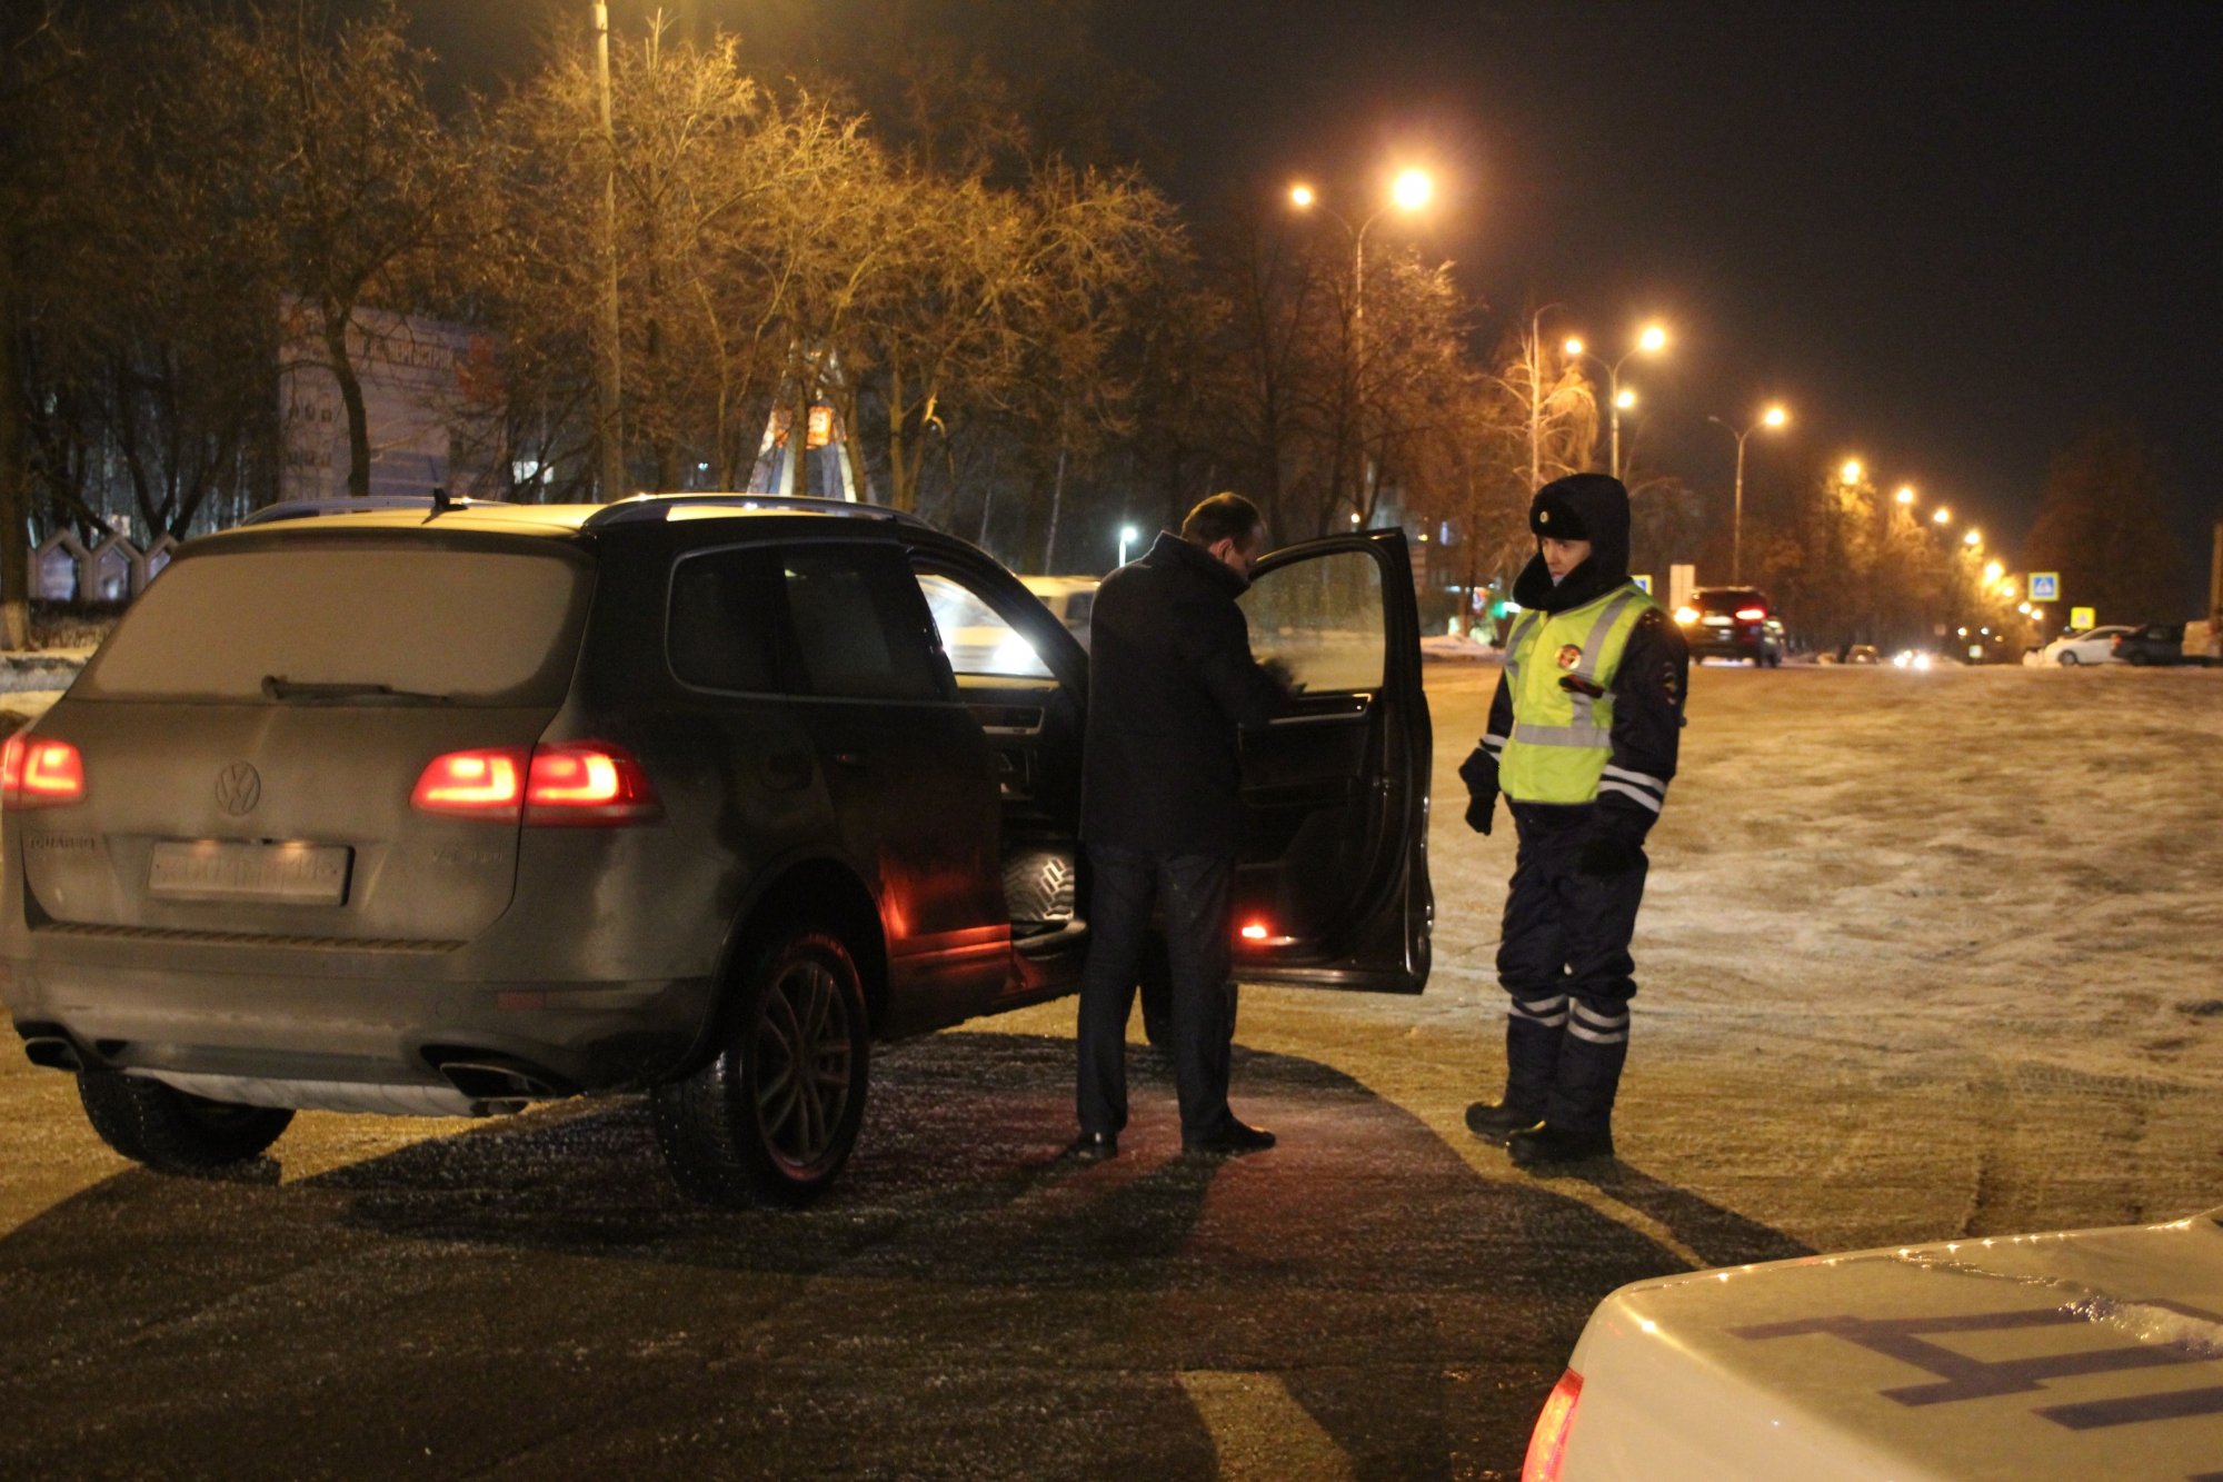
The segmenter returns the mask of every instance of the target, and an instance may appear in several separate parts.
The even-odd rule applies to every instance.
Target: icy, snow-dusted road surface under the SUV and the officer
[[[1494,676],[1432,672],[1447,803]],[[1698,674],[1638,932],[1623,1159],[1581,1177],[1461,1130],[1498,1066],[1509,841],[1449,806],[1429,992],[1247,988],[1236,1106],[1283,1146],[1229,1164],[1178,1155],[1140,1048],[1123,1155],[1060,1162],[1069,1004],[887,1048],[845,1182],[798,1215],[689,1206],[634,1101],[305,1113],[245,1177],[165,1179],[0,1039],[0,1475],[1501,1478],[1623,1282],[2223,1204],[2201,1113],[2223,1001],[2212,977],[2167,986],[2214,966],[2223,819],[2170,819],[2210,850],[2179,879],[2139,843],[2147,792],[2090,803],[2145,868],[2079,888],[2134,903],[2161,870],[2179,895],[2134,930],[2085,921],[2107,950],[2079,990],[2001,959],[2034,928],[2014,881],[1972,883],[1965,841],[2005,830],[2012,852],[2036,768],[2079,763],[2083,705],[2176,714],[2185,763],[2212,768],[2223,674],[1912,679]],[[2072,714],[1990,763],[2007,823],[1892,803],[1907,859],[1867,895],[1834,892],[1861,861],[1816,863],[1801,828],[1863,854],[1874,790],[1754,781],[1796,754],[1881,788],[1903,759],[1863,725],[1890,714],[1925,757],[1981,705]],[[2156,975],[2172,961],[2201,970]]]

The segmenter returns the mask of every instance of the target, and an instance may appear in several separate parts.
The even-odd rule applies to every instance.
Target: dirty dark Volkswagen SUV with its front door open
[[[1416,992],[1403,536],[1278,552],[1245,601],[1305,690],[1245,739],[1238,970]],[[951,625],[1009,641],[956,672]],[[687,1193],[800,1204],[874,1039],[1078,986],[1085,701],[1016,576],[869,505],[280,505],[7,741],[0,997],[156,1168],[300,1106],[647,1090]]]

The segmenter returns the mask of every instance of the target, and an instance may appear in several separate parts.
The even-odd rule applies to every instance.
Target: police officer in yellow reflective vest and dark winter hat
[[[1645,834],[1674,779],[1689,650],[1629,581],[1629,492],[1574,474],[1529,505],[1536,556],[1514,581],[1489,732],[1461,763],[1467,823],[1505,794],[1521,846],[1498,941],[1505,1095],[1467,1128],[1516,1164],[1612,1155],[1629,1053],[1629,935]]]

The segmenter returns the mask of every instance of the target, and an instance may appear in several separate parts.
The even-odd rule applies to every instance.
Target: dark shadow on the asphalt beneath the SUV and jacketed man
[[[994,1033],[889,1048],[858,1155],[794,1213],[689,1204],[640,1099],[276,1188],[118,1175],[0,1239],[0,1373],[69,1375],[0,1389],[0,1458],[98,1471],[160,1446],[225,1471],[251,1444],[271,1475],[433,1453],[453,1475],[549,1460],[562,1435],[545,1475],[736,1455],[820,1475],[1212,1475],[1245,1435],[1276,1473],[1296,1424],[1356,1475],[1514,1473],[1598,1297],[1683,1268],[1549,1182],[1476,1175],[1405,1108],[1298,1057],[1236,1050],[1238,1113],[1283,1142],[1212,1162],[1180,1153],[1172,1077],[1134,1048],[1120,1157],[1071,1162],[1071,1053]],[[1674,1228],[1703,1206],[1616,1177],[1638,1208],[1681,1197]],[[200,1377],[185,1348],[205,1355],[207,1324],[227,1353],[300,1357]],[[1265,1400],[1229,1433],[1198,1382]],[[362,1400],[307,1433],[300,1384]],[[207,1422],[182,1442],[178,1393]]]

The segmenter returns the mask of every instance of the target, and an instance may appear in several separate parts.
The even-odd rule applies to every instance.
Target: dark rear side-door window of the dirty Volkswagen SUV
[[[900,550],[831,541],[789,545],[780,552],[780,585],[807,694],[956,699]]]

